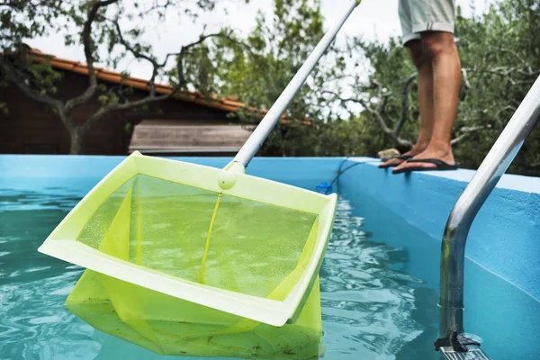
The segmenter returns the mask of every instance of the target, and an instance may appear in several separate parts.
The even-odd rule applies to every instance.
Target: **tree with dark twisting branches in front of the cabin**
[[[4,0],[0,2],[0,44],[4,54],[0,57],[2,79],[4,82],[11,81],[32,99],[49,104],[70,134],[70,153],[80,154],[85,149],[85,134],[103,115],[157,103],[185,91],[189,83],[184,75],[184,67],[186,55],[191,49],[211,38],[232,40],[229,32],[225,31],[202,34],[193,43],[158,59],[152,54],[149,44],[141,43],[145,29],[140,24],[163,19],[166,13],[171,11],[196,18],[201,12],[211,11],[215,4],[215,0],[198,0],[194,4],[175,0],[153,0],[135,2],[128,8],[121,0]],[[124,23],[139,25],[125,30]],[[85,52],[89,72],[88,87],[82,94],[70,99],[55,97],[58,72],[46,62],[35,61],[23,45],[24,40],[49,31],[67,31],[67,44],[79,44]],[[136,100],[130,99],[125,89],[107,89],[100,86],[94,71],[96,62],[101,61],[115,67],[121,58],[128,54],[132,58],[148,61],[153,68],[152,76],[148,80],[148,96]],[[170,71],[172,62],[174,72]],[[169,94],[156,94],[157,78],[170,74],[175,74],[175,77],[168,77],[169,83],[173,85],[172,91]],[[102,106],[83,123],[76,123],[72,118],[73,112],[95,96],[99,98]]]

